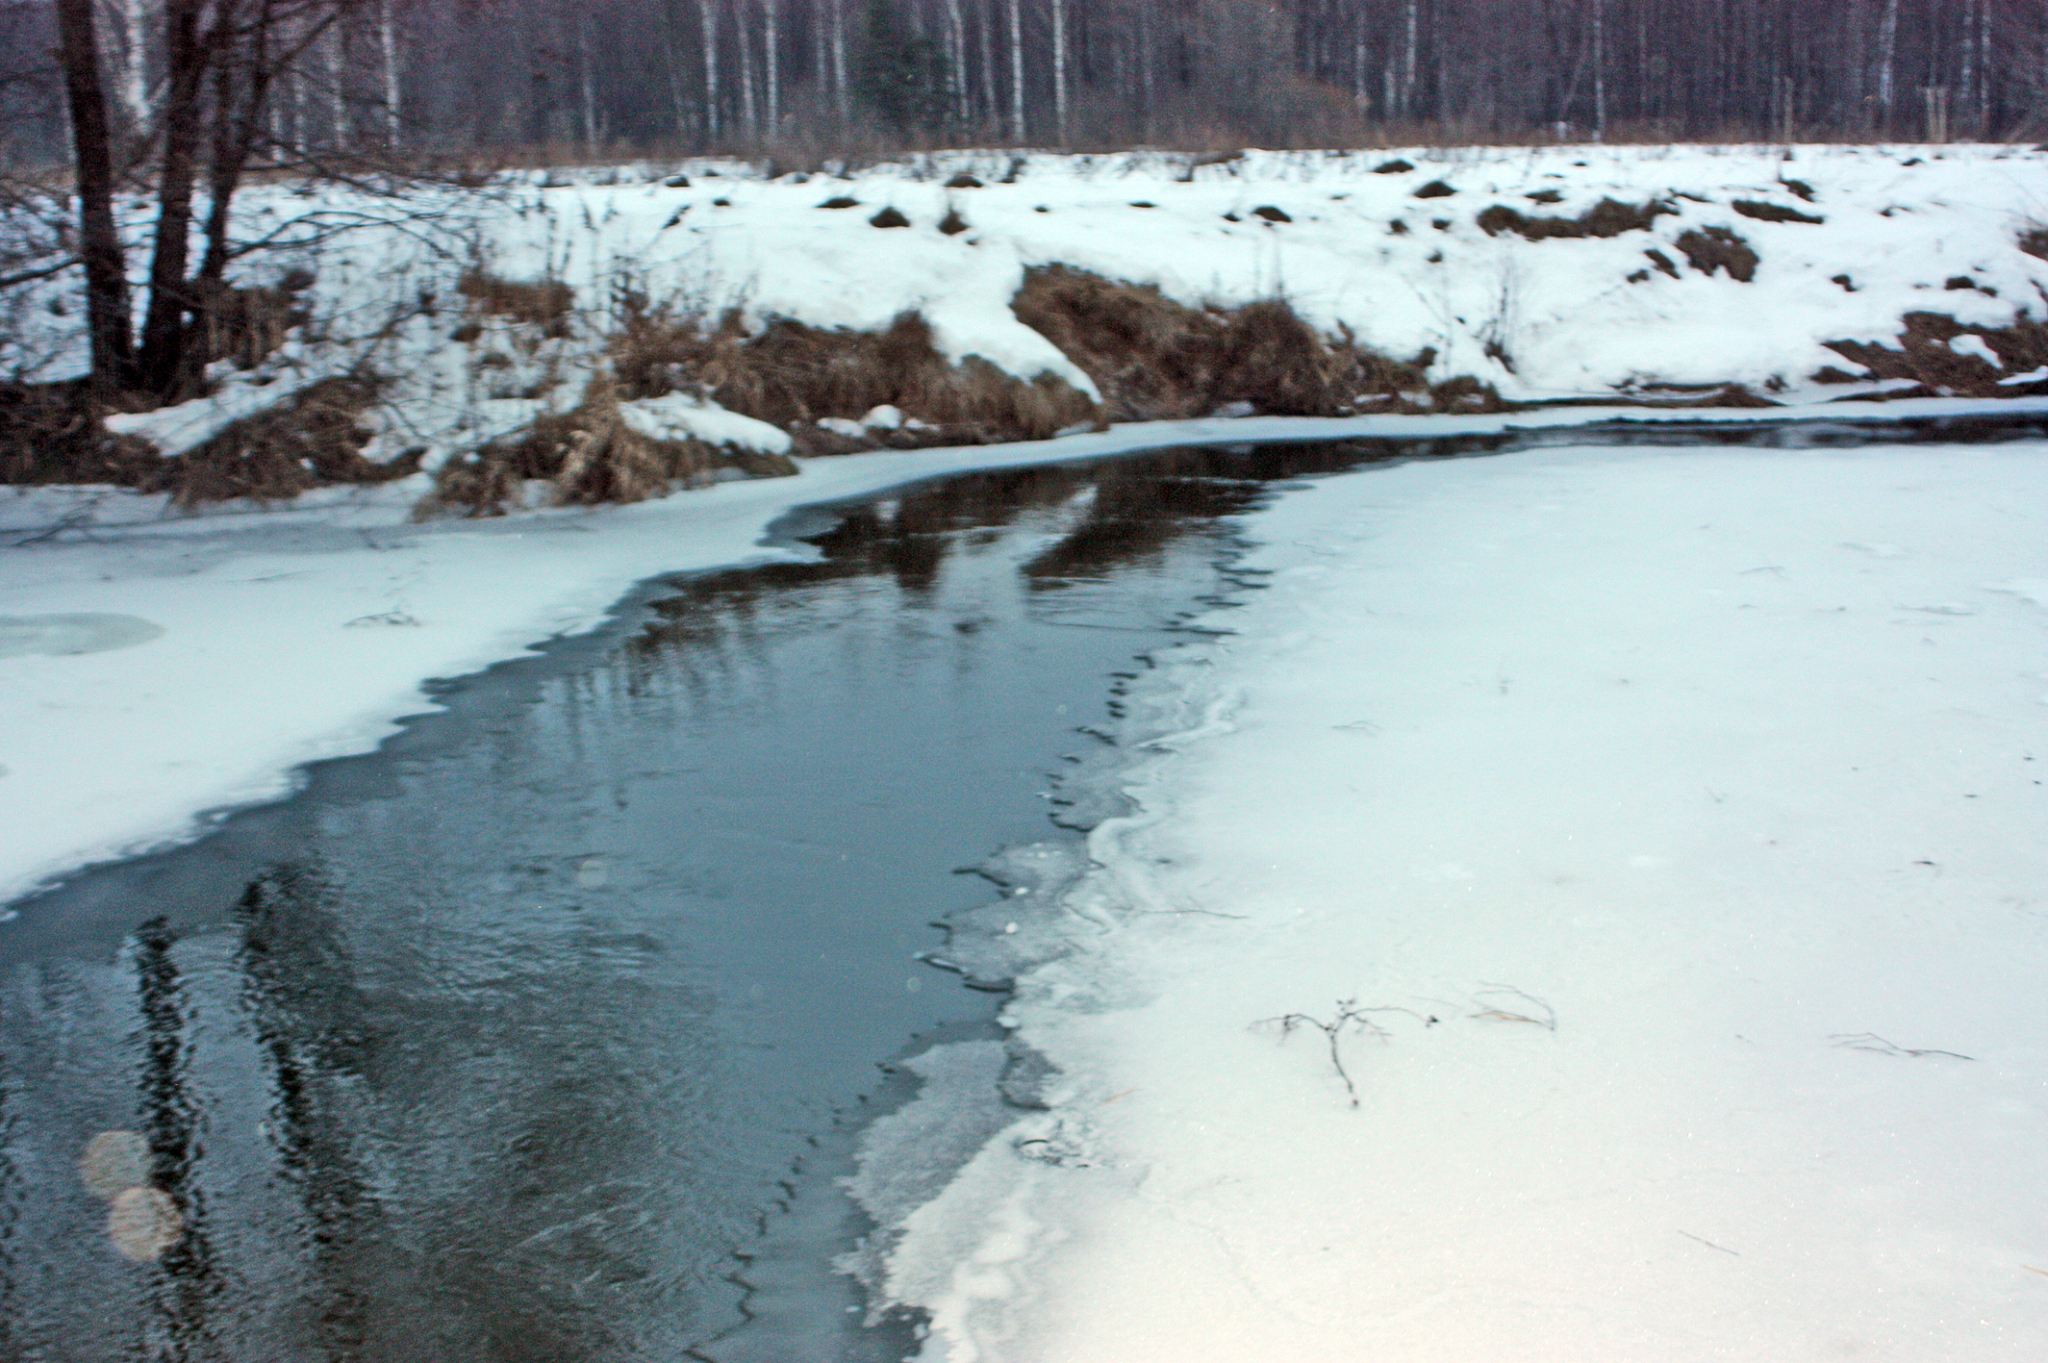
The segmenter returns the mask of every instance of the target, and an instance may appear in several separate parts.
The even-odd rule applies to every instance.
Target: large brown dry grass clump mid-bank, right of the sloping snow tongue
[[[1188,307],[1151,284],[1067,266],[1026,272],[1012,309],[1087,370],[1118,422],[1206,415],[1231,403],[1276,415],[1409,405],[1403,395],[1427,391],[1423,370],[1434,360],[1393,360],[1348,334],[1323,338],[1280,299]]]

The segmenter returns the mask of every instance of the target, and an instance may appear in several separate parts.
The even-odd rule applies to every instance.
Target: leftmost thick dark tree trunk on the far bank
[[[127,258],[115,225],[113,143],[92,0],[57,0],[57,35],[78,168],[78,256],[86,268],[92,387],[104,393],[131,381],[133,338]]]

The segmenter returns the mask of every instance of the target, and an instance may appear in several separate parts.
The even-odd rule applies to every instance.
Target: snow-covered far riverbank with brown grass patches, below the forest
[[[1102,415],[2030,393],[2048,387],[2040,166],[2005,145],[952,151],[774,180],[700,162],[391,196],[254,186],[244,229],[279,246],[238,282],[281,291],[258,311],[283,329],[248,338],[281,346],[111,426],[231,463],[274,444],[236,422],[348,377],[322,401],[369,465],[537,438],[492,475],[516,489],[565,458],[545,420],[590,401],[575,422],[690,446],[625,463],[705,481],[778,469],[793,440]],[[8,295],[0,370],[82,366],[74,293]],[[1278,303],[1309,329],[1243,315]],[[201,483],[297,477],[272,460]]]

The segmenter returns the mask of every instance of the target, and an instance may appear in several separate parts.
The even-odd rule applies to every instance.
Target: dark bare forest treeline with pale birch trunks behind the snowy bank
[[[0,0],[0,153],[16,168],[68,160],[57,20],[82,4]],[[369,149],[801,160],[944,143],[1202,149],[2048,133],[2048,0],[90,8],[117,145],[162,133],[180,33],[219,37],[270,68],[250,151],[276,166]]]

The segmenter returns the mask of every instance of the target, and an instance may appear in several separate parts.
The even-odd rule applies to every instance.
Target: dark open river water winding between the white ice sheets
[[[1929,438],[1614,440],[1872,434]],[[2040,432],[1937,438],[2011,434]],[[991,894],[958,868],[1055,833],[1077,731],[1233,587],[1229,516],[1274,481],[1593,438],[1182,448],[805,512],[817,563],[655,583],[299,796],[25,903],[0,1359],[901,1357],[829,1273],[858,1232],[829,1173],[879,1062],[989,1027],[918,962]]]

